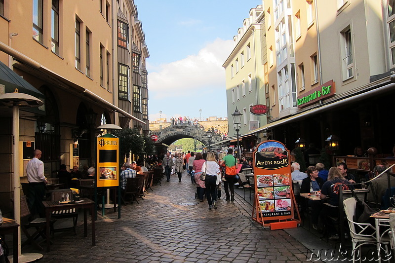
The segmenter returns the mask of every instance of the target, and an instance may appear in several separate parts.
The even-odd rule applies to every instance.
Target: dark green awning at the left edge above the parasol
[[[38,89],[33,87],[29,82],[27,82],[20,75],[16,74],[0,61],[0,94],[11,93],[15,91],[32,95],[41,101],[44,101],[45,99],[44,94],[42,94]],[[36,114],[45,114],[43,106],[39,108],[25,108],[21,110]]]

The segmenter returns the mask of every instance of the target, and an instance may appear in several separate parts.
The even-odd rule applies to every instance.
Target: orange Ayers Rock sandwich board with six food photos
[[[280,142],[262,142],[253,153],[253,165],[255,198],[252,219],[271,229],[297,227],[300,221],[294,218],[296,202],[289,151]]]

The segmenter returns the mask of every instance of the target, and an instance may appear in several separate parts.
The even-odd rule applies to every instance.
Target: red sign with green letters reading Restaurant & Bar
[[[303,93],[298,97],[298,107],[303,108],[316,103],[317,101],[335,96],[335,81],[329,80],[315,89]]]

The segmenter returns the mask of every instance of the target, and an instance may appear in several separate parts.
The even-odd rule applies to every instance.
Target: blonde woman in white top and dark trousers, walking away
[[[206,172],[206,179],[204,185],[206,186],[206,197],[208,202],[208,209],[217,209],[217,185],[220,184],[221,172],[219,170],[218,162],[215,160],[215,155],[211,151],[207,152],[207,161],[201,167],[202,171]]]

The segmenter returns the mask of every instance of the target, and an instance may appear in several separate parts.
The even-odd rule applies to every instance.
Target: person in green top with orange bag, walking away
[[[232,155],[233,149],[228,149],[228,155],[226,155],[219,165],[225,163],[225,181],[224,181],[224,188],[226,194],[226,201],[235,201],[235,177],[236,177],[236,169],[238,168],[236,157]],[[231,195],[229,194],[229,190],[231,190]]]

